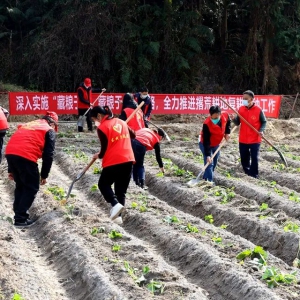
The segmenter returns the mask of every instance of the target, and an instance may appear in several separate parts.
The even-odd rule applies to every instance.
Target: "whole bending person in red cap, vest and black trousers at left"
[[[9,139],[5,156],[8,164],[8,178],[16,183],[13,203],[14,225],[30,226],[31,207],[39,185],[47,182],[55,150],[55,132],[58,116],[49,111],[39,120],[20,125]],[[54,132],[55,131],[55,132]],[[43,159],[41,174],[37,160]]]

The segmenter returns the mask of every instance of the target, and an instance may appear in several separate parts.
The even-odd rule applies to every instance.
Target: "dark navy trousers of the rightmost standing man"
[[[258,157],[260,143],[239,144],[241,163],[244,172],[254,178],[258,178]]]

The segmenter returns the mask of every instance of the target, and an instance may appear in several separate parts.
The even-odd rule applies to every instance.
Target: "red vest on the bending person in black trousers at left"
[[[7,143],[5,154],[14,154],[37,162],[42,157],[45,136],[53,130],[46,120],[21,125]]]

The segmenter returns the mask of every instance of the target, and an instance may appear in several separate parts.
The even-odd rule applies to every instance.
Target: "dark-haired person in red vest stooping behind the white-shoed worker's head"
[[[136,108],[137,104],[134,101],[132,94],[125,94],[119,118],[126,121]],[[141,109],[137,111],[135,116],[127,123],[127,125],[134,131],[145,128],[144,114]]]

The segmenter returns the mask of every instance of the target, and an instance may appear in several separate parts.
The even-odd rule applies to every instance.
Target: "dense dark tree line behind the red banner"
[[[300,90],[299,41],[300,0],[6,0],[0,80],[290,94]]]

